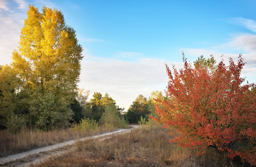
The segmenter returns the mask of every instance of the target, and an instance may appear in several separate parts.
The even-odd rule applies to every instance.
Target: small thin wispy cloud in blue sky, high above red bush
[[[229,22],[232,24],[238,24],[240,26],[244,26],[246,29],[249,29],[250,31],[253,31],[254,33],[256,33],[256,22],[253,19],[235,17],[235,18],[232,18]]]

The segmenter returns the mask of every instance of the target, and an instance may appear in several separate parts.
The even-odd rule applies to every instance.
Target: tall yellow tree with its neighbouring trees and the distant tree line
[[[0,129],[22,127],[51,130],[69,127],[82,118],[99,121],[108,104],[121,117],[122,108],[107,93],[77,90],[82,46],[59,10],[29,6],[13,51],[12,63],[0,66]],[[128,122],[147,117],[152,104],[140,95],[125,115]]]

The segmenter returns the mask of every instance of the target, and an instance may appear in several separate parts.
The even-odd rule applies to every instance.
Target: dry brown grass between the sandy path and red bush
[[[38,166],[241,166],[232,165],[215,150],[197,150],[169,143],[166,129],[147,127],[105,140],[76,143],[77,149]]]

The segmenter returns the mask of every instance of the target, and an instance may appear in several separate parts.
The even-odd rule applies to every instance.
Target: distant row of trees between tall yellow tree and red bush
[[[165,98],[160,91],[153,91],[149,98],[138,95],[133,104],[128,108],[128,111],[123,112],[123,108],[117,106],[115,100],[108,93],[104,97],[101,93],[93,93],[91,100],[88,100],[88,96],[88,91],[84,93],[84,90],[80,90],[76,100],[71,104],[71,109],[75,113],[74,121],[80,122],[82,118],[99,121],[109,104],[114,105],[119,116],[129,123],[137,123],[141,118],[149,120],[149,116],[155,113],[156,99]]]

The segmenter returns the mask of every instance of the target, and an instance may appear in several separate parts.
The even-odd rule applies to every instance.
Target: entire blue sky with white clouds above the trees
[[[125,107],[167,86],[167,65],[211,54],[239,54],[243,77],[256,82],[256,1],[0,0],[1,64],[18,46],[29,4],[61,10],[84,48],[80,88],[109,93]]]

